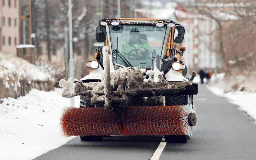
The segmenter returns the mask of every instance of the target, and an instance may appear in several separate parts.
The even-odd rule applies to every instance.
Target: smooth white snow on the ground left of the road
[[[0,159],[33,159],[66,144],[60,128],[63,109],[70,99],[61,97],[61,88],[44,92],[32,89],[18,99],[0,99]],[[75,97],[79,107],[79,97]]]

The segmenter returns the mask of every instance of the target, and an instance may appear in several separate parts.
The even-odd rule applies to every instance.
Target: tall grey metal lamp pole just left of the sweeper
[[[75,77],[74,72],[74,59],[73,59],[73,36],[72,36],[72,0],[68,0],[69,11],[69,77],[72,77],[72,81]],[[75,107],[75,97],[70,99],[70,106]]]

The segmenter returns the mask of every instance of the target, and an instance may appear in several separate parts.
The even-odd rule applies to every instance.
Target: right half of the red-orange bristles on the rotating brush
[[[124,114],[125,135],[184,135],[180,106],[128,107]]]

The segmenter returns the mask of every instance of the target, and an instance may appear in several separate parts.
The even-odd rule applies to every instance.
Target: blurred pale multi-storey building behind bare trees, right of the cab
[[[183,46],[184,62],[189,70],[216,69],[217,56],[215,46],[216,22],[202,15],[176,10],[179,23],[185,27]],[[215,50],[214,50],[215,48]]]

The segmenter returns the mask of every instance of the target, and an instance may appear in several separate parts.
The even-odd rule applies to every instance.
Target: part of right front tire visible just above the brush
[[[188,104],[188,95],[165,96],[166,106],[182,106]]]

